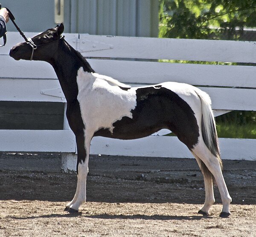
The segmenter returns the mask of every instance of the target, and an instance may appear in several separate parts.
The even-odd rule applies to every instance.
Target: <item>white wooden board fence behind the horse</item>
[[[31,37],[35,33],[26,35]],[[45,62],[15,61],[10,58],[9,49],[23,39],[16,32],[8,32],[7,37],[7,45],[0,48],[0,101],[65,103],[52,67]],[[256,63],[256,42],[78,34],[65,34],[65,39],[82,55],[90,57],[88,61],[96,72],[119,81],[128,84],[177,81],[196,85],[211,96],[216,116],[230,110],[256,110],[256,66],[157,61],[172,59]],[[70,153],[70,156],[64,156],[66,158],[73,157],[71,153],[76,152],[75,137],[68,130],[66,120],[64,124],[65,130],[0,130],[0,150],[61,152]],[[220,138],[219,141],[222,159],[256,159],[256,140]],[[93,138],[90,153],[192,157],[185,145],[176,137],[166,136],[149,136],[130,141],[96,137]],[[72,162],[76,163],[75,160]],[[64,166],[64,169],[67,169],[67,164]],[[73,169],[71,166],[68,168]]]

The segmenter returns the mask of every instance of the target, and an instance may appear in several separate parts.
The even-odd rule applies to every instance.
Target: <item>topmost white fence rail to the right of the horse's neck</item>
[[[78,50],[90,57],[256,63],[256,43],[249,41],[99,35],[80,35],[80,41]]]

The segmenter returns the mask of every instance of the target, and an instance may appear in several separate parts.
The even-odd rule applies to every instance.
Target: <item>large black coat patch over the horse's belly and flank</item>
[[[163,128],[175,133],[189,149],[198,143],[199,128],[195,113],[182,98],[161,85],[136,90],[137,105],[132,119],[125,116],[113,123],[113,133],[102,128],[94,136],[137,139]]]

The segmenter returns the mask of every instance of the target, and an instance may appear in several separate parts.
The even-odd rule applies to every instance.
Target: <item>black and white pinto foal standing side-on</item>
[[[97,74],[64,39],[64,25],[13,46],[15,60],[46,61],[52,65],[67,100],[67,120],[76,136],[77,187],[64,209],[78,212],[86,201],[90,142],[94,136],[138,139],[163,128],[171,130],[191,151],[204,176],[205,202],[198,214],[208,215],[215,203],[213,179],[222,199],[220,217],[229,217],[232,201],[222,174],[215,118],[209,95],[183,83],[164,82],[130,87]],[[114,69],[113,69],[114,70]]]

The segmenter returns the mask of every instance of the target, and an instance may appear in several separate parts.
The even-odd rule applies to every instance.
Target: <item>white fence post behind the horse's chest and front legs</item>
[[[67,111],[67,103],[65,103],[64,107],[64,122],[63,122],[63,130],[70,130],[70,126],[67,121],[66,116]],[[61,171],[68,173],[76,171],[76,162],[77,162],[77,154],[76,153],[61,153]]]

